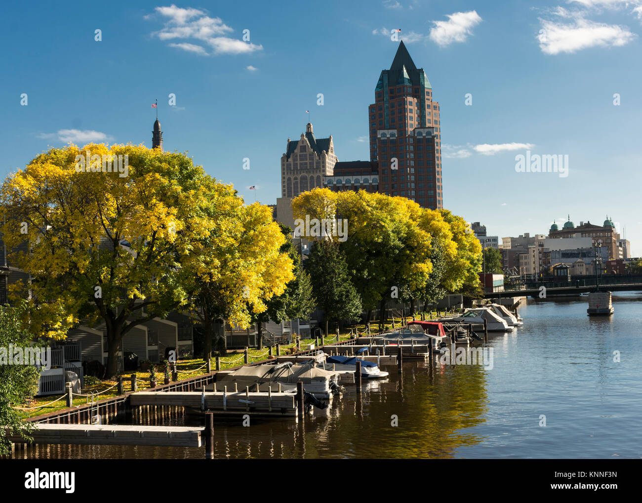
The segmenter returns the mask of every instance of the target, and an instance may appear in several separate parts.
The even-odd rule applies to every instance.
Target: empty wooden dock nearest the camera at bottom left
[[[202,427],[147,425],[36,425],[31,436],[36,444],[73,445],[155,445],[174,447],[202,446]],[[24,443],[20,436],[9,437]]]

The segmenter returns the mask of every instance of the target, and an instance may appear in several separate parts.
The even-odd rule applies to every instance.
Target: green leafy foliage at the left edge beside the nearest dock
[[[4,351],[11,344],[15,348],[28,348],[35,337],[22,324],[27,311],[26,303],[17,307],[0,306],[0,348]],[[4,358],[13,357],[5,354]],[[0,357],[2,358],[2,357]],[[0,361],[0,457],[10,454],[11,443],[6,434],[21,435],[30,439],[31,423],[22,421],[20,407],[38,392],[39,371],[30,365],[7,365]]]

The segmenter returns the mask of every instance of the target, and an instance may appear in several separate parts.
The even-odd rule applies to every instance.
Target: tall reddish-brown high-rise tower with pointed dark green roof
[[[370,160],[379,161],[379,191],[444,207],[439,103],[403,42],[381,71],[369,107]]]

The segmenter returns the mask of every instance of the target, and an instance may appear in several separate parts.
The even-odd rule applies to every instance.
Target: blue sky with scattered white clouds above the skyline
[[[340,161],[369,158],[400,28],[440,103],[444,206],[500,237],[608,214],[642,255],[642,0],[43,2],[0,26],[3,178],[70,140],[151,146],[158,99],[166,150],[273,204],[305,110]],[[568,177],[516,172],[527,149],[568,155]]]

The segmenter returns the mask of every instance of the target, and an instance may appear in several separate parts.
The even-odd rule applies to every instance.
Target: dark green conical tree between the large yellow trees
[[[348,274],[345,255],[333,240],[315,241],[306,261],[312,289],[328,322],[354,318],[361,313],[361,299]]]

